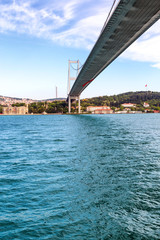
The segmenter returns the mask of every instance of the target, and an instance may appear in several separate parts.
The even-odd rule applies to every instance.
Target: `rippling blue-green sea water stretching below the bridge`
[[[160,114],[0,116],[0,239],[160,239]]]

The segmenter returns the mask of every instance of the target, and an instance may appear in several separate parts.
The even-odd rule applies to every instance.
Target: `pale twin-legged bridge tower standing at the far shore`
[[[76,68],[72,67],[72,64],[76,65]],[[76,70],[76,77],[71,76],[71,67]],[[68,112],[71,113],[71,102],[72,100],[78,100],[78,113],[80,113],[80,96],[70,96],[70,90],[71,90],[71,81],[75,81],[78,74],[79,74],[79,60],[77,61],[68,61]]]

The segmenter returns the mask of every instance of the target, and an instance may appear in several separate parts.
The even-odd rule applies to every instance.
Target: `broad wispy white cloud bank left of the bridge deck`
[[[42,4],[36,0],[14,0],[3,4],[0,1],[0,31],[31,34],[67,46],[91,48],[111,5],[111,1],[106,6],[103,2],[46,0],[46,4]]]

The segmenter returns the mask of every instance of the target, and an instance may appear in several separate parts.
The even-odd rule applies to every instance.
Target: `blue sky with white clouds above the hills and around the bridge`
[[[85,62],[112,3],[0,0],[0,95],[55,98],[57,86],[58,97],[66,97],[68,60]],[[160,21],[110,64],[81,98],[145,90],[160,92]]]

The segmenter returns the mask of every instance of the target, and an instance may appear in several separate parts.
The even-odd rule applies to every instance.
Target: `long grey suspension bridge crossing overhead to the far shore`
[[[77,78],[68,78],[69,85],[70,80],[75,80],[72,88],[70,89],[69,86],[68,89],[69,113],[73,100],[78,100],[80,113],[80,94],[84,89],[158,19],[160,19],[160,0],[120,0],[118,2],[111,16],[108,16]]]

